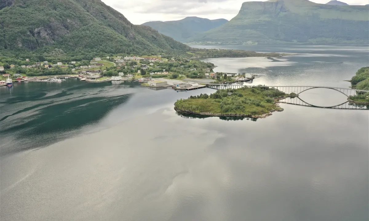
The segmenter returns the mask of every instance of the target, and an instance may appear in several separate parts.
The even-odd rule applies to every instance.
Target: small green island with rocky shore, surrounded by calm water
[[[174,109],[183,114],[263,118],[274,111],[283,111],[276,103],[290,96],[294,95],[263,86],[222,89],[210,95],[200,94],[177,100]]]

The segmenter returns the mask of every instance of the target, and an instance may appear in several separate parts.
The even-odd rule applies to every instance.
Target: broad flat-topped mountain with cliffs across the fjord
[[[368,42],[368,6],[252,1],[226,24],[187,42]]]

